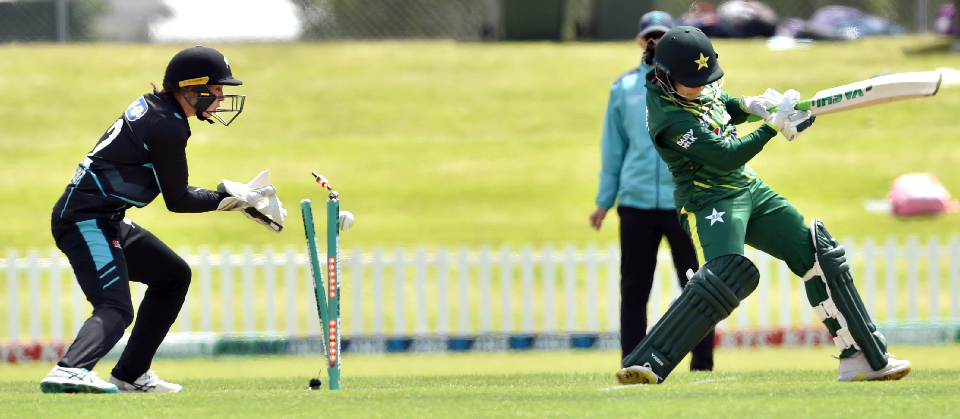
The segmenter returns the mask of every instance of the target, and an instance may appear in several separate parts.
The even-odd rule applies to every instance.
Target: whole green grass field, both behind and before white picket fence
[[[819,43],[771,52],[718,41],[725,90],[805,96],[881,71],[960,68],[960,56],[907,54],[934,37]],[[96,139],[185,45],[0,45],[0,250],[53,245],[50,208]],[[630,42],[363,42],[212,45],[249,95],[228,128],[193,122],[191,183],[270,169],[290,211],[271,234],[237,214],[172,214],[162,198],[129,216],[175,248],[302,245],[300,198],[326,175],[352,211],[347,247],[607,242],[588,228],[607,85],[636,65]],[[828,115],[795,143],[772,141],[751,165],[834,235],[958,231],[956,216],[869,214],[900,174],[928,172],[960,194],[954,141],[960,89]],[[741,133],[752,127],[741,128]],[[5,257],[5,254],[0,254]],[[25,290],[25,288],[23,289]],[[237,317],[239,318],[239,317]],[[412,318],[412,317],[411,317]],[[352,355],[341,392],[307,391],[319,358],[157,360],[177,395],[43,395],[50,363],[0,364],[4,417],[951,417],[957,345],[893,347],[914,372],[896,383],[838,384],[831,348],[723,350],[717,370],[618,387],[610,352]],[[106,377],[112,361],[98,365]],[[325,379],[324,379],[325,382]],[[325,384],[324,384],[325,386]]]

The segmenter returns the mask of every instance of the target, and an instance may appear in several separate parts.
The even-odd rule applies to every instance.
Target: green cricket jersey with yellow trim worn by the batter
[[[734,126],[749,115],[740,98],[708,86],[700,102],[712,106],[676,105],[651,81],[653,74],[647,79],[647,128],[673,173],[677,207],[697,210],[755,181],[756,173],[747,162],[777,135],[777,129],[764,124],[737,137]]]

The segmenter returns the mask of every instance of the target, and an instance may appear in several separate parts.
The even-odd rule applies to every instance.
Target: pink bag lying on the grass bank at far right
[[[952,213],[960,208],[960,202],[950,200],[944,185],[928,174],[900,175],[889,198],[890,210],[900,217]]]

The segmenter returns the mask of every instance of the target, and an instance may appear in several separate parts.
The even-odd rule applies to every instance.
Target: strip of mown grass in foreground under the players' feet
[[[2,417],[953,417],[960,347],[893,347],[900,382],[836,383],[831,348],[721,350],[712,373],[620,387],[612,352],[348,356],[344,390],[308,391],[319,358],[156,361],[180,394],[49,395],[49,364],[0,365]],[[112,366],[98,366],[106,376]],[[324,374],[324,388],[325,388]]]

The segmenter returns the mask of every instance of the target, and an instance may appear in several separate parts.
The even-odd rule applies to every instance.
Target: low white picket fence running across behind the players
[[[844,241],[875,320],[960,321],[960,240],[905,244]],[[70,339],[89,315],[57,249],[8,251],[0,259],[0,342]],[[183,249],[194,269],[172,332],[317,336],[319,319],[303,253]],[[471,336],[491,333],[603,333],[619,329],[616,244],[518,249],[438,247],[413,252],[345,251],[343,333],[347,337]],[[760,286],[719,326],[725,330],[814,324],[803,282],[780,261],[748,249]],[[679,295],[668,253],[658,258],[648,306],[656,321]],[[134,306],[146,287],[133,283]],[[628,302],[631,303],[631,302]]]

